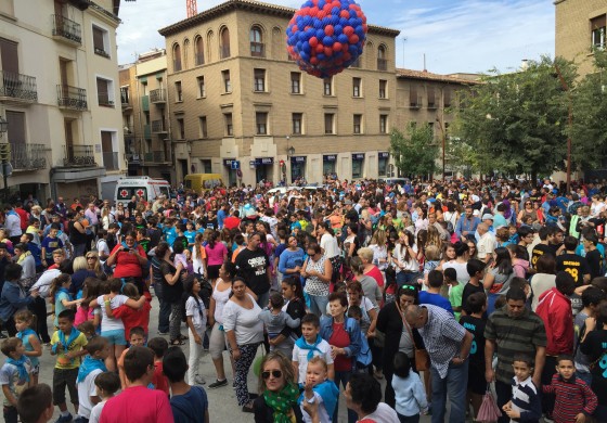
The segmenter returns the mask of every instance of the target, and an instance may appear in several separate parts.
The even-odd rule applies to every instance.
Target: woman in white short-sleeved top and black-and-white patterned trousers
[[[247,374],[259,344],[263,341],[263,322],[259,320],[261,308],[257,298],[247,292],[245,281],[232,281],[232,297],[223,307],[223,329],[234,359],[234,389],[238,406],[244,412],[254,412],[247,387]]]

